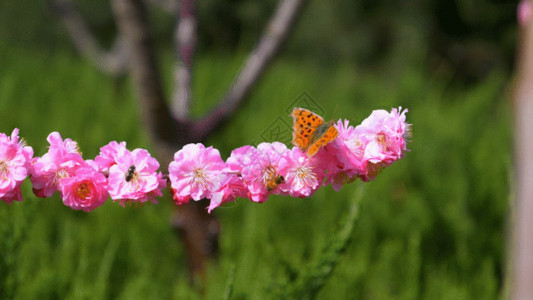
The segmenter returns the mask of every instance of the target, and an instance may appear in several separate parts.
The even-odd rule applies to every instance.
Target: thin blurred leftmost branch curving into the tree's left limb
[[[80,54],[86,56],[103,72],[115,77],[124,75],[128,53],[120,37],[115,40],[112,49],[106,51],[98,45],[72,0],[55,0],[54,8]]]

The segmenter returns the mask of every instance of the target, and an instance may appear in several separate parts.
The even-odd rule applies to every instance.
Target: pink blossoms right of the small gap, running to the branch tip
[[[271,194],[309,197],[328,184],[338,191],[357,178],[374,179],[407,151],[406,112],[375,110],[357,127],[339,120],[338,137],[311,158],[297,147],[273,142],[237,148],[224,162],[213,147],[186,145],[169,166],[174,201],[211,199],[211,212],[236,197],[260,203]]]

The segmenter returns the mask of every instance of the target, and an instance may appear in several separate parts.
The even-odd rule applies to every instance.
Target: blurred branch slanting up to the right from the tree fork
[[[225,98],[209,115],[198,121],[195,135],[199,140],[226,121],[246,99],[284,45],[304,4],[305,0],[280,0],[257,48],[248,57]]]

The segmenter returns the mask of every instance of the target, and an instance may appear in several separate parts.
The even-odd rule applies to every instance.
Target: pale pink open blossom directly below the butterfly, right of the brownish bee
[[[292,197],[311,196],[324,179],[324,169],[313,165],[297,147],[285,152],[280,160],[279,172],[285,174],[285,183],[280,188]]]

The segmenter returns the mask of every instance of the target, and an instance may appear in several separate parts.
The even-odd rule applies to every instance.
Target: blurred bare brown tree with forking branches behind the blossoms
[[[183,145],[204,141],[231,118],[279,53],[305,3],[305,0],[279,2],[256,48],[246,59],[225,97],[202,118],[191,119],[189,107],[193,101],[191,81],[196,44],[196,1],[182,0],[176,5],[169,0],[113,0],[112,10],[119,33],[116,47],[111,51],[98,46],[72,0],[55,1],[74,45],[82,55],[105,72],[117,75],[127,70],[133,77],[141,119],[162,166],[168,165],[173,154]],[[147,3],[161,5],[167,11],[178,10],[174,30],[177,61],[173,71],[171,105],[167,105],[157,68]],[[201,275],[206,261],[217,253],[218,221],[213,215],[208,215],[203,206],[190,203],[176,210],[173,225],[183,237],[191,279]]]

